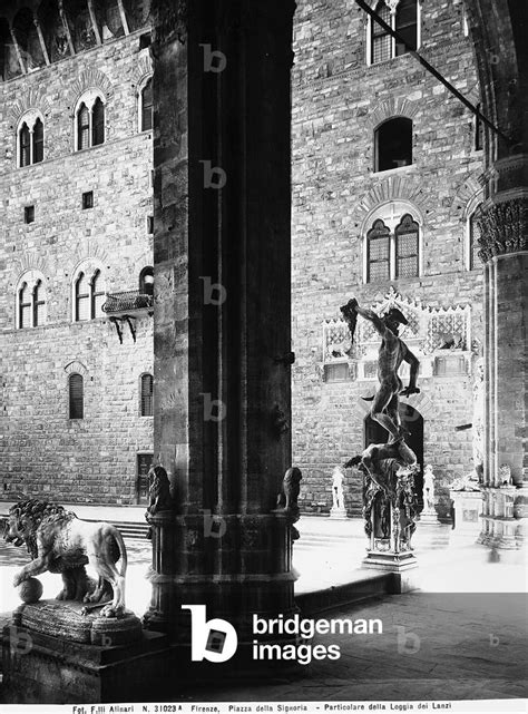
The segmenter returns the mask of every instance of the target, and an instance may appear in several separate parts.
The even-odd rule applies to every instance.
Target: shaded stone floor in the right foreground
[[[341,658],[299,677],[204,686],[178,701],[497,700],[528,696],[524,595],[410,593],[325,613],[326,619],[380,618],[381,635],[316,635]],[[519,702],[525,711],[525,704]],[[500,710],[498,710],[500,711]]]

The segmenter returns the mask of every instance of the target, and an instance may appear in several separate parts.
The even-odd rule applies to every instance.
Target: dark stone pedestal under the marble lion
[[[80,608],[80,603],[43,600],[16,610],[3,628],[4,701],[145,701],[170,677],[164,635],[144,633],[133,614],[102,618],[84,616]]]

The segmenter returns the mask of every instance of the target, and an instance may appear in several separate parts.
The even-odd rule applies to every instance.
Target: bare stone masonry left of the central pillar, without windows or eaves
[[[145,32],[145,29],[143,30]],[[85,260],[106,292],[138,290],[153,265],[153,139],[139,131],[137,94],[151,74],[141,31],[0,82],[0,492],[66,502],[136,502],[137,453],[153,450],[139,380],[153,372],[153,317],[136,314],[123,344],[105,316],[72,321],[72,280]],[[106,102],[105,143],[74,151],[74,109],[86,89]],[[17,167],[16,131],[28,109],[45,124],[42,163]],[[94,207],[81,195],[94,192]],[[35,222],[25,223],[25,206]],[[18,329],[17,285],[43,277],[47,320]],[[133,315],[135,313],[131,313]],[[84,419],[69,419],[68,374],[85,380]]]

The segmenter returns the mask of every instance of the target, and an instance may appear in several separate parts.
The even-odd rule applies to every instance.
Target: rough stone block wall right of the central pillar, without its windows
[[[421,6],[420,52],[466,97],[479,88],[462,3]],[[300,0],[293,74],[293,453],[303,470],[305,512],[327,512],[332,468],[364,443],[361,397],[375,382],[327,383],[322,324],[355,295],[370,305],[392,285],[433,307],[470,304],[472,335],[482,342],[481,266],[467,270],[467,218],[480,200],[483,151],[475,149],[472,115],[412,57],[366,66],[365,16],[344,0]],[[413,121],[413,164],[374,173],[374,129],[391,116]],[[421,214],[422,274],[363,283],[366,217],[391,199]],[[476,345],[476,354],[480,346]],[[471,470],[472,376],[419,380],[429,408],[424,462],[448,509],[447,486]],[[413,399],[409,400],[413,405]],[[349,512],[361,505],[361,479],[348,473]]]

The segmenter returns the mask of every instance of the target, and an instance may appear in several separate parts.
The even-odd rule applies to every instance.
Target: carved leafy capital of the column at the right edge
[[[493,204],[478,218],[479,257],[487,263],[496,255],[528,250],[528,199]]]

